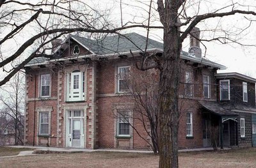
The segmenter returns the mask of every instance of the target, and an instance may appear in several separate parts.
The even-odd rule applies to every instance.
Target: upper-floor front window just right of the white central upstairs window
[[[130,66],[118,66],[117,91],[118,93],[127,92],[130,82]]]

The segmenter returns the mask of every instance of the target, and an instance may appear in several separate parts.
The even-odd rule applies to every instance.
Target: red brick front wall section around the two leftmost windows
[[[26,139],[27,142],[26,144],[33,144],[33,132],[34,132],[34,116],[35,116],[35,144],[36,144],[36,137],[38,135],[38,129],[39,126],[37,125],[37,112],[36,107],[52,107],[53,111],[51,111],[51,145],[56,146],[56,113],[57,113],[57,100],[45,100],[44,98],[40,98],[39,94],[39,87],[38,87],[38,82],[40,80],[40,74],[51,74],[51,98],[57,96],[57,73],[52,72],[47,68],[42,68],[40,71],[30,71],[27,72],[27,79],[26,79],[26,84],[27,84],[27,96],[28,99],[26,101]],[[36,94],[35,94],[36,93]]]

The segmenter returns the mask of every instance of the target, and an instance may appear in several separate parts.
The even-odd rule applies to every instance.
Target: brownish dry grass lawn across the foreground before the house
[[[0,167],[158,167],[153,154],[92,152],[0,158]],[[256,149],[179,153],[180,167],[256,167]]]

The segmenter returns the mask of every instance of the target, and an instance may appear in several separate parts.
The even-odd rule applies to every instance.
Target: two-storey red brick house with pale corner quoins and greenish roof
[[[200,36],[199,33],[194,35]],[[125,94],[126,79],[122,75],[129,73],[135,66],[134,57],[140,57],[146,42],[147,38],[136,33],[107,36],[100,40],[69,36],[64,41],[53,43],[57,47],[51,59],[33,59],[25,67],[25,144],[65,148],[148,149],[147,142],[141,139],[148,139],[147,132],[143,123],[136,119],[138,114],[132,110],[134,102],[131,96]],[[207,126],[212,123],[220,126],[218,144],[226,145],[225,121],[221,119],[227,119],[230,125],[236,122],[233,130],[232,126],[229,127],[228,146],[233,145],[231,134],[234,134],[234,130],[237,137],[240,135],[241,121],[243,128],[246,128],[246,136],[245,139],[237,138],[237,143],[252,144],[252,135],[249,136],[252,126],[246,124],[253,119],[252,112],[248,111],[255,108],[255,92],[253,95],[250,93],[252,89],[248,90],[250,109],[244,110],[246,112],[222,107],[224,104],[236,104],[231,89],[228,92],[230,100],[220,100],[223,89],[218,89],[218,83],[226,77],[216,72],[225,69],[225,66],[202,58],[199,43],[193,36],[190,42],[189,52],[180,53],[183,63],[180,106],[183,111],[180,113],[179,148],[211,146]],[[147,52],[161,57],[163,43],[149,39]],[[240,76],[243,76],[248,88],[255,86],[255,79]],[[233,81],[241,80],[240,76],[232,76],[228,86]],[[247,103],[242,102],[241,105],[247,107]],[[116,115],[118,111],[125,115]],[[223,117],[227,115],[221,115],[221,112],[227,112],[228,118]],[[122,118],[136,127],[140,135]],[[223,127],[220,122],[223,122]],[[146,127],[150,129],[148,125]]]

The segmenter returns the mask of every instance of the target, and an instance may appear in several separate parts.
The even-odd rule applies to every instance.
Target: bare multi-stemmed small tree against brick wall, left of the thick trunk
[[[118,75],[124,79],[120,87],[125,89],[125,95],[131,96],[131,100],[134,102],[134,114],[129,118],[132,118],[133,122],[135,120],[140,122],[150,139],[143,137],[137,126],[133,125],[129,119],[125,122],[129,123],[132,129],[152,148],[154,154],[157,154],[159,151],[159,115],[157,111],[159,73],[156,69],[140,72],[134,67],[129,72]],[[121,116],[125,119],[123,115],[120,111],[115,117]]]

